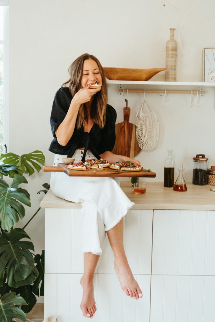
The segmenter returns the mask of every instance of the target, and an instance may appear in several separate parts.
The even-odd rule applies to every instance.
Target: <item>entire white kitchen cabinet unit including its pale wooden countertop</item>
[[[214,322],[214,193],[208,186],[189,183],[186,195],[174,194],[162,183],[147,186],[147,194],[134,196],[131,185],[122,184],[135,203],[124,219],[124,246],[143,298],[134,300],[122,291],[106,237],[94,274],[97,312],[93,319]],[[59,322],[84,321],[81,205],[57,198],[51,191],[42,205],[46,208],[45,317],[55,314]]]

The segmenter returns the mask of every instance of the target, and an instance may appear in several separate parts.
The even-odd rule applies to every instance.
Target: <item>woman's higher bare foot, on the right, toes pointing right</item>
[[[114,261],[114,270],[117,273],[123,291],[131,298],[142,298],[142,291],[133,277],[127,258]]]

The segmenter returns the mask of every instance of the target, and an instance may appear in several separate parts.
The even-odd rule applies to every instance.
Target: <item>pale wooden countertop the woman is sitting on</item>
[[[215,210],[215,192],[210,191],[215,186],[186,185],[186,192],[176,192],[165,188],[162,182],[147,182],[146,193],[138,195],[133,193],[129,181],[120,182],[124,193],[135,203],[132,209]],[[49,189],[41,201],[41,208],[81,208],[81,204],[58,198]]]

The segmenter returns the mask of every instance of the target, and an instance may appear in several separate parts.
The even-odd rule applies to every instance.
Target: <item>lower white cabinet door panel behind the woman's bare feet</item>
[[[80,303],[82,274],[45,273],[44,317],[57,315],[59,322],[85,321]],[[94,274],[94,295],[97,311],[95,322],[149,322],[150,275],[134,275],[143,298],[135,300],[127,296],[116,274]]]

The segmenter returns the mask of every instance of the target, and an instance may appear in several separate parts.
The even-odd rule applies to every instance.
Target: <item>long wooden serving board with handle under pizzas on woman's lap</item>
[[[57,166],[45,166],[44,171],[50,172],[65,172],[70,177],[122,177],[122,178],[131,178],[131,177],[147,177],[155,178],[156,173],[142,172],[142,171],[120,171],[112,170],[110,168],[103,168],[103,170],[90,169],[87,171],[79,170],[70,170],[67,168],[67,165],[64,163],[58,163]]]

